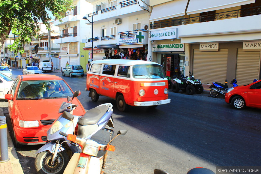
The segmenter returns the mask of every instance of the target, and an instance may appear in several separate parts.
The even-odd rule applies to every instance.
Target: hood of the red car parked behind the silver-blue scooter
[[[56,119],[61,113],[58,110],[62,102],[67,102],[67,98],[41,99],[41,100],[16,100],[17,106],[21,113],[20,119],[25,121],[30,120],[49,120]],[[73,115],[83,115],[81,103],[78,100],[73,100],[73,104],[78,105],[73,110]]]

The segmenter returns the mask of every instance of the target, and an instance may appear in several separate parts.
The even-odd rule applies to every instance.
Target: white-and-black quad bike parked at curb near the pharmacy
[[[200,79],[195,79],[190,71],[186,78],[184,75],[180,77],[175,75],[173,81],[176,81],[171,88],[173,92],[179,92],[181,89],[182,91],[186,91],[188,95],[193,95],[195,92],[201,94],[204,91]]]

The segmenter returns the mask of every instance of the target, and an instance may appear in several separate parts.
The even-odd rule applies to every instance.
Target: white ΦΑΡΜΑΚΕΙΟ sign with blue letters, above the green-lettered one
[[[177,28],[167,29],[167,30],[157,30],[151,32],[151,40],[162,40],[162,39],[176,39],[177,38]]]

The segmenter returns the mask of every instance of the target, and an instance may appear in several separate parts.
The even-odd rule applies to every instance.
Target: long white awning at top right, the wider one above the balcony
[[[190,0],[187,7],[187,15],[236,7],[254,2],[255,0]]]

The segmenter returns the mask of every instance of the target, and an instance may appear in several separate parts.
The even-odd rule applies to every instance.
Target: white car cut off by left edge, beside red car
[[[4,95],[10,90],[13,84],[13,79],[0,73],[0,99],[5,99]]]

